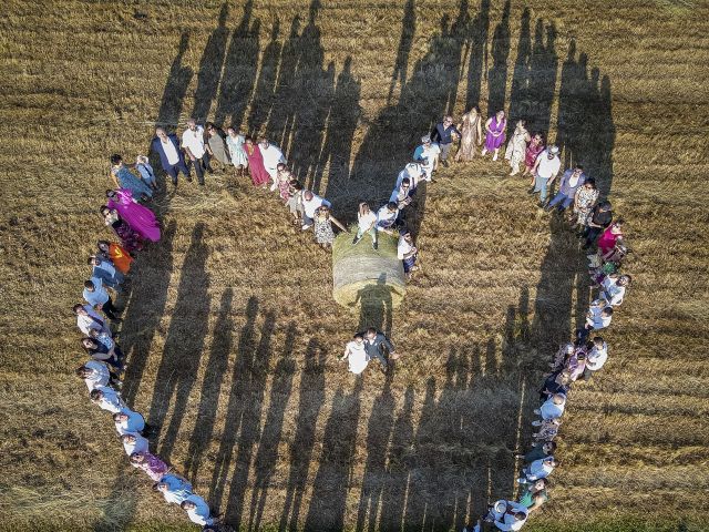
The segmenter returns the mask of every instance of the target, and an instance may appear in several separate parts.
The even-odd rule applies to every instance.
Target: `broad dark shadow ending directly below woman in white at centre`
[[[347,490],[351,480],[351,461],[357,441],[362,378],[351,393],[335,392],[330,416],[322,434],[322,452],[312,480],[310,507],[305,530],[345,530]]]

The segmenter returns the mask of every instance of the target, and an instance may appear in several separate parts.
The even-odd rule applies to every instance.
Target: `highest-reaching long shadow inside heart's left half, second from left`
[[[163,358],[155,377],[148,423],[161,427],[172,407],[169,424],[161,430],[158,454],[169,460],[197,378],[209,318],[208,248],[205,226],[197,223],[181,269],[177,299],[165,338]]]

